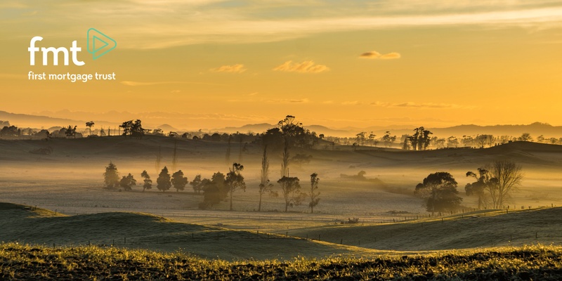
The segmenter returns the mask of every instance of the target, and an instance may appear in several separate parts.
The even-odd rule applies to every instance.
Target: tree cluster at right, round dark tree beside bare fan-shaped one
[[[478,209],[491,207],[500,209],[509,199],[511,192],[521,185],[523,179],[520,165],[497,160],[477,169],[478,173],[468,171],[466,176],[476,179],[464,187],[466,195],[478,196]],[[416,185],[414,194],[424,198],[426,211],[454,211],[459,209],[462,198],[459,197],[457,181],[447,172],[429,174],[422,183]]]

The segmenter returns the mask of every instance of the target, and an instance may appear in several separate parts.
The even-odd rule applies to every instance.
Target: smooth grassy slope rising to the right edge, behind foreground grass
[[[370,249],[430,251],[475,247],[562,243],[562,208],[475,211],[374,226],[336,225],[301,228],[298,237]]]

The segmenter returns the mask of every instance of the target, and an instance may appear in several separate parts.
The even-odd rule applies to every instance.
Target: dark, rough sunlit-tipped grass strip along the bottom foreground
[[[560,280],[562,248],[535,244],[374,258],[223,261],[116,247],[0,244],[2,280]]]

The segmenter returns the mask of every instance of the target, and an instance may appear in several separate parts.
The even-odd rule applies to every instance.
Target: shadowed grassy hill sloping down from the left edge
[[[219,226],[178,223],[150,214],[101,213],[63,216],[22,205],[0,205],[0,241],[57,245],[115,245],[189,252],[209,259],[292,259],[375,251],[296,237]]]

